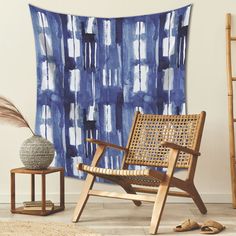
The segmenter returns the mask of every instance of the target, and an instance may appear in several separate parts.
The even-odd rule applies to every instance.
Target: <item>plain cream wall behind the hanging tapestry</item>
[[[236,1],[192,0],[193,11],[187,63],[188,112],[207,112],[196,185],[208,202],[230,202],[227,87],[225,71],[225,14],[235,15]],[[0,94],[11,98],[34,125],[36,66],[28,3],[61,13],[103,17],[157,13],[191,3],[187,0],[8,0],[0,14]],[[236,28],[236,24],[235,24]],[[19,148],[30,136],[25,128],[0,126],[0,202],[9,202],[12,168],[21,166]],[[50,177],[50,176],[49,176]],[[49,179],[54,194],[57,178]],[[66,200],[78,197],[83,182],[66,178]],[[18,201],[26,200],[28,182],[17,177]],[[101,185],[99,185],[101,187]],[[109,187],[115,188],[115,187]]]

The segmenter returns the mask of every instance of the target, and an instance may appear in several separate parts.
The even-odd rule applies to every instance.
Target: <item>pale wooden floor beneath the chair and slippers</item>
[[[152,204],[140,207],[129,202],[88,203],[81,221],[81,226],[92,229],[102,235],[148,235]],[[38,221],[70,223],[75,205],[67,204],[66,210],[50,216],[27,216],[11,214],[10,205],[0,204],[0,220],[7,221]],[[167,204],[160,223],[159,235],[202,235],[199,230],[174,233],[172,228],[191,218],[199,223],[213,219],[224,224],[227,229],[220,235],[236,235],[236,209],[230,204],[207,204],[208,214],[201,215],[193,204]]]

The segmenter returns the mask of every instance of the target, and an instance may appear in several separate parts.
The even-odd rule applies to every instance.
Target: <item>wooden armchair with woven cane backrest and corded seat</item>
[[[157,233],[167,195],[190,197],[200,212],[205,214],[207,209],[193,182],[205,116],[205,112],[196,115],[149,115],[137,112],[126,147],[88,139],[98,146],[91,166],[78,165],[78,169],[88,175],[74,211],[73,222],[79,220],[89,196],[128,199],[136,206],[140,206],[141,201],[154,202],[150,234]],[[106,148],[124,152],[121,170],[97,167]],[[149,169],[130,170],[130,165]],[[165,167],[166,172],[151,167]],[[185,180],[173,176],[178,168],[187,169]],[[93,190],[96,176],[120,185],[126,193]],[[181,191],[169,191],[170,187]],[[148,194],[138,195],[137,192]]]

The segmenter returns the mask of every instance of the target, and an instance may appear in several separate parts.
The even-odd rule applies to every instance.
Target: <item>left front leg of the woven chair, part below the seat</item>
[[[87,175],[86,181],[84,183],[84,188],[80,194],[79,201],[78,201],[78,203],[75,207],[75,210],[74,210],[74,216],[72,219],[72,222],[74,222],[74,223],[78,222],[78,220],[82,214],[82,211],[83,211],[83,209],[88,201],[88,198],[89,198],[89,190],[93,187],[94,180],[95,180],[95,176],[93,176],[91,174]]]

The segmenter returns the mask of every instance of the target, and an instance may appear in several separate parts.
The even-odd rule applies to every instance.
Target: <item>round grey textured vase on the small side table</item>
[[[54,146],[47,139],[34,135],[20,148],[20,159],[27,169],[47,169],[54,158]]]

